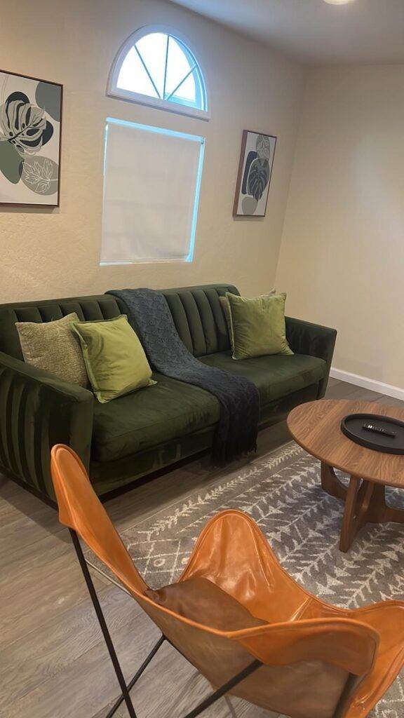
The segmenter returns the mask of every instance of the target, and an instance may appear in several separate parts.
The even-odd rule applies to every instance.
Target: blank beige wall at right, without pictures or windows
[[[311,70],[277,286],[334,366],[404,387],[404,66]]]

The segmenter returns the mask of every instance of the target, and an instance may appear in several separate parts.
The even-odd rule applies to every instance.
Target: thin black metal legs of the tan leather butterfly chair
[[[122,673],[121,665],[118,660],[118,656],[116,655],[116,651],[114,648],[114,643],[112,643],[111,635],[109,633],[108,626],[106,625],[106,620],[104,617],[104,613],[102,612],[100,602],[98,600],[97,592],[93,584],[93,580],[91,579],[91,574],[88,569],[88,565],[86,562],[86,559],[84,558],[83,549],[81,548],[80,540],[78,538],[78,535],[73,529],[70,530],[70,535],[73,540],[73,546],[75,548],[75,552],[78,557],[78,562],[81,566],[81,570],[83,572],[83,576],[86,579],[86,584],[88,588],[88,592],[91,596],[91,601],[93,602],[94,610],[96,611],[96,615],[98,618],[98,623],[101,626],[101,631],[104,635],[104,640],[106,643],[106,647],[108,648],[109,656],[111,658],[112,665],[114,666],[114,671],[116,673],[116,678],[118,679],[119,686],[121,688],[121,695],[119,698],[116,699],[114,705],[109,710],[109,712],[106,714],[105,718],[112,718],[112,716],[116,713],[119,706],[125,702],[127,705],[128,713],[130,718],[137,718],[137,714],[134,710],[134,705],[132,703],[132,698],[130,696],[130,691],[132,690],[133,686],[137,683],[140,676],[142,676],[142,673],[144,673],[145,668],[149,665],[150,661],[152,660],[153,656],[157,653],[160,646],[167,640],[167,643],[170,643],[170,645],[173,645],[168,638],[165,637],[165,635],[162,635],[159,640],[157,640],[157,643],[153,646],[152,650],[150,651],[147,658],[144,659],[142,666],[137,670],[137,672],[134,674],[133,678],[127,682],[124,679],[124,674]],[[175,648],[175,646],[173,646]],[[178,649],[176,649],[178,650]],[[182,655],[182,654],[181,654]],[[187,713],[183,718],[196,718],[198,715],[200,715],[204,710],[206,710],[209,706],[216,703],[216,701],[219,700],[222,696],[224,696],[228,691],[230,691],[234,686],[237,686],[237,684],[241,683],[247,676],[250,675],[250,673],[254,673],[254,671],[257,671],[257,668],[260,668],[262,666],[261,661],[252,661],[252,663],[249,664],[249,666],[246,666],[240,673],[237,673],[236,676],[233,676],[229,681],[227,681],[224,686],[221,686],[221,688],[217,689],[217,691],[214,691],[210,696],[208,696],[206,699],[201,701],[201,703],[196,706],[193,710],[191,710],[189,713]]]

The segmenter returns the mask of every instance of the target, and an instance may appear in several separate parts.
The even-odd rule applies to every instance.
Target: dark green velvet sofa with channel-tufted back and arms
[[[162,290],[186,347],[203,363],[254,381],[261,425],[323,396],[336,331],[288,318],[293,356],[235,361],[219,302],[228,291],[239,294],[229,284]],[[0,305],[1,472],[52,503],[50,449],[62,442],[78,452],[105,497],[211,447],[219,402],[201,388],[155,374],[155,386],[99,404],[91,391],[24,363],[15,322],[50,322],[69,312],[102,320],[121,307],[109,294]]]

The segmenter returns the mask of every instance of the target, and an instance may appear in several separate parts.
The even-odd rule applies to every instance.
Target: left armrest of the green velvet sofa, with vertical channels
[[[55,500],[50,449],[68,444],[88,467],[93,394],[0,352],[0,471]]]

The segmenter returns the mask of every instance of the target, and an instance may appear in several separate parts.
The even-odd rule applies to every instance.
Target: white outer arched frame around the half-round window
[[[123,90],[117,87],[121,65],[122,62],[124,62],[125,57],[127,57],[129,50],[139,39],[141,39],[145,35],[151,34],[152,32],[164,32],[166,34],[172,35],[174,39],[180,40],[180,42],[182,42],[183,45],[188,48],[193,57],[195,57],[196,63],[201,73],[203,88],[205,90],[206,110],[188,107],[186,105],[181,105],[177,102],[170,102],[169,100],[163,100],[162,98],[150,97],[149,95],[142,95],[140,93],[131,92],[131,90]],[[135,32],[132,32],[131,35],[129,35],[129,37],[125,40],[124,44],[121,45],[119,51],[116,53],[114,62],[112,63],[111,72],[109,73],[108,85],[106,88],[106,94],[109,95],[109,97],[119,98],[120,100],[129,100],[131,102],[139,103],[140,105],[155,107],[159,110],[165,110],[166,112],[173,112],[175,114],[188,115],[188,117],[196,117],[201,120],[209,120],[211,117],[209,111],[211,103],[209,100],[208,86],[206,83],[206,73],[203,70],[203,66],[201,65],[199,58],[197,58],[195,53],[193,52],[192,44],[185,37],[183,37],[180,32],[178,32],[176,29],[173,29],[173,27],[167,27],[167,25],[144,25],[144,27],[140,27],[139,29],[135,30]]]

